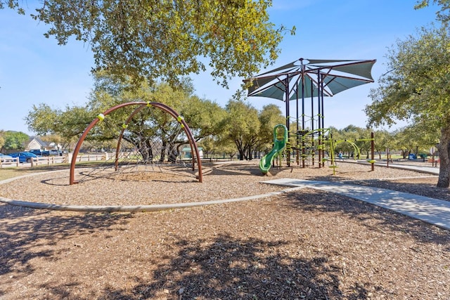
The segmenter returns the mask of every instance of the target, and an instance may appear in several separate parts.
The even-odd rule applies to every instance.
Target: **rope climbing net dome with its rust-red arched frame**
[[[192,147],[195,142],[191,141],[191,131],[184,119],[161,103],[136,105],[139,106],[134,110],[121,107],[108,115],[100,114],[93,121],[95,126],[86,128],[89,133],[78,144],[84,141],[84,150],[102,148],[103,159],[87,163],[79,159],[77,178],[73,172],[70,184],[98,178],[201,181],[200,162],[195,159]]]

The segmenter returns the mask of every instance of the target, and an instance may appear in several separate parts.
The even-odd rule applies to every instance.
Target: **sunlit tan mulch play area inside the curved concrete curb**
[[[82,168],[79,174],[87,176],[87,179],[70,185],[68,170],[65,168],[61,171],[40,172],[36,176],[3,184],[0,196],[58,205],[139,207],[235,199],[285,190],[283,186],[262,183],[277,178],[369,184],[393,178],[408,178],[411,181],[411,178],[418,176],[414,171],[392,169],[386,172],[385,167],[376,167],[371,171],[369,164],[343,162],[336,162],[338,171],[335,175],[333,169],[328,167],[272,167],[269,175],[264,176],[258,163],[258,160],[254,160],[205,164],[203,183],[194,177],[171,174],[166,169],[158,168],[117,174],[113,172],[108,176],[99,175],[98,171],[92,172],[96,168]],[[422,176],[430,175],[420,174]]]

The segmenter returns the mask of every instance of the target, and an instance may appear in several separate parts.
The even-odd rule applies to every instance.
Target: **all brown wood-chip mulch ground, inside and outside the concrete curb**
[[[66,171],[0,185],[57,204],[207,201],[345,181],[450,200],[437,176],[357,164],[212,164],[204,182],[136,174],[68,185]],[[137,176],[137,177],[136,177]],[[136,180],[139,179],[139,180]],[[450,232],[317,190],[158,212],[89,214],[0,204],[0,299],[450,299]]]

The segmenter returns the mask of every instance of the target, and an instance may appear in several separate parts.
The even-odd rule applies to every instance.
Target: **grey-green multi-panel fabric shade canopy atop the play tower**
[[[376,60],[316,60],[300,58],[256,77],[248,96],[285,101],[307,97],[333,96],[361,84],[373,82]]]

